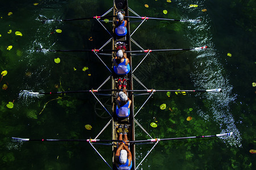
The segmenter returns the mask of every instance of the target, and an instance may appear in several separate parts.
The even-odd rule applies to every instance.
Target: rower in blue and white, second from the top
[[[117,75],[125,75],[128,74],[131,70],[129,65],[129,59],[124,53],[125,50],[118,50],[117,56],[113,59],[114,63],[114,73]]]

